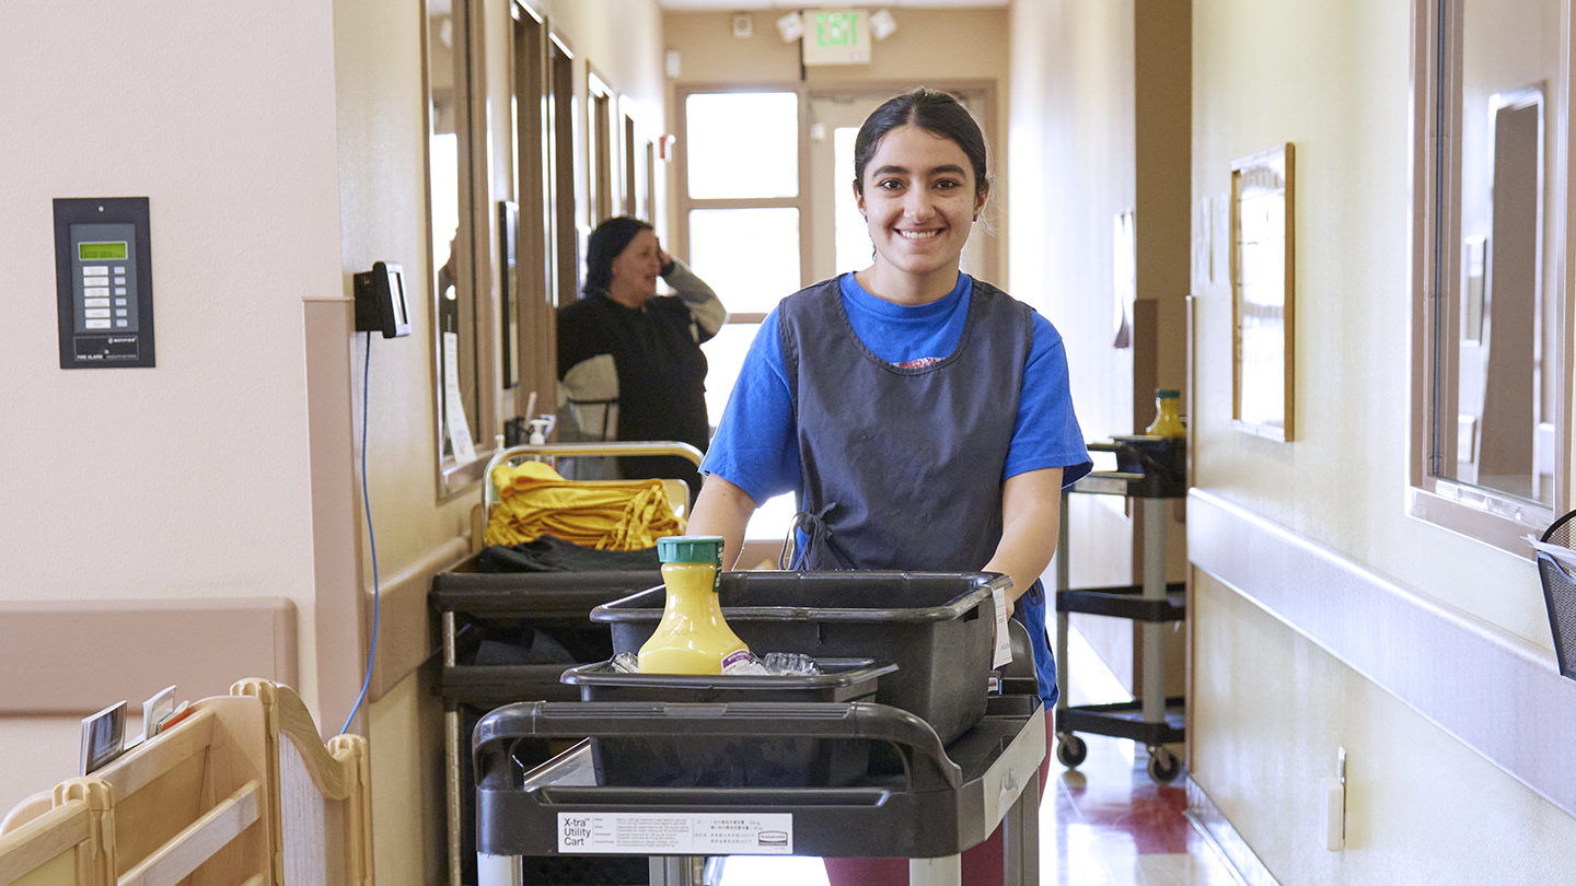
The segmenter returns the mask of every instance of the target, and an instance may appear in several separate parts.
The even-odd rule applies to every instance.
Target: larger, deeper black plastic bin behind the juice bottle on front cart
[[[898,670],[875,702],[916,714],[942,744],[985,716],[991,676],[994,572],[723,572],[722,613],[750,650],[816,661],[872,659]],[[635,653],[667,601],[656,586],[591,610],[613,631],[613,651]]]

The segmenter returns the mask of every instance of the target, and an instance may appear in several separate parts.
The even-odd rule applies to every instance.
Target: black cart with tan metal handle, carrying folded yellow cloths
[[[591,457],[591,456],[682,456],[700,463],[701,454],[687,443],[630,441],[630,443],[550,443],[523,445],[500,449],[487,463],[487,481],[482,484],[482,506],[473,531],[474,550],[481,549],[481,531],[485,527],[498,495],[492,484],[492,471],[501,463],[523,459]],[[582,481],[596,484],[599,481]],[[670,482],[668,495],[675,509],[687,506],[687,487],[682,481]],[[681,493],[681,490],[684,490]],[[433,575],[429,604],[438,613],[443,642],[443,668],[438,691],[443,695],[444,724],[444,782],[449,850],[449,886],[474,883],[470,870],[474,854],[474,796],[466,744],[474,722],[487,711],[514,702],[575,700],[578,692],[566,686],[564,670],[605,661],[611,654],[608,631],[593,624],[589,613],[596,605],[643,591],[662,583],[662,572],[646,571],[596,571],[596,572],[481,572],[478,557]],[[566,664],[511,664],[471,665],[466,651],[478,637],[489,632],[542,631],[561,640],[575,662]],[[536,754],[547,760],[552,754],[547,743],[539,743]],[[629,866],[624,866],[629,867]],[[528,880],[555,883],[553,872],[539,872]],[[629,883],[618,870],[591,872],[582,881]]]

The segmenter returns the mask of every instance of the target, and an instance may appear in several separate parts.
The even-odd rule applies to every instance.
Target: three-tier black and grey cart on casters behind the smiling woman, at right
[[[1149,777],[1171,782],[1182,772],[1182,761],[1165,746],[1185,738],[1182,697],[1165,694],[1165,634],[1162,624],[1187,618],[1185,585],[1166,583],[1166,500],[1187,495],[1185,441],[1158,437],[1113,437],[1111,443],[1091,443],[1091,451],[1114,452],[1114,471],[1094,471],[1062,492],[1062,523],[1056,550],[1056,673],[1061,700],[1056,703],[1056,758],[1075,768],[1087,747],[1076,733],[1110,735],[1141,743],[1149,750]],[[1124,495],[1143,498],[1144,580],[1143,585],[1072,590],[1067,566],[1069,493]],[[1116,705],[1067,703],[1067,616],[1105,615],[1143,623],[1144,665],[1139,698]]]

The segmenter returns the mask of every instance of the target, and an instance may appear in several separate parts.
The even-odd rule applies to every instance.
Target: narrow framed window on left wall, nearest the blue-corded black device
[[[437,432],[443,465],[476,459],[476,306],[470,219],[466,0],[426,0],[427,210],[432,218]]]

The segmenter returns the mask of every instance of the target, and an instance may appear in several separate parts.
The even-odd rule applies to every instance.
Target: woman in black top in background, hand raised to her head
[[[657,277],[676,296],[657,298]],[[558,378],[571,400],[602,427],[583,432],[616,440],[678,440],[706,451],[706,355],[728,318],[717,293],[662,251],[649,224],[619,216],[586,243],[585,298],[558,309]],[[616,405],[616,434],[607,427]],[[675,478],[700,492],[695,465],[678,456],[619,459],[629,479]]]

